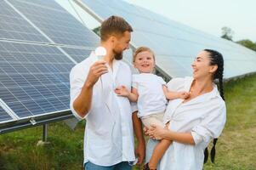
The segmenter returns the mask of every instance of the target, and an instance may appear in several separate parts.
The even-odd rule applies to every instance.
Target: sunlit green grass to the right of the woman
[[[225,84],[227,122],[215,164],[204,169],[256,169],[256,75]]]

